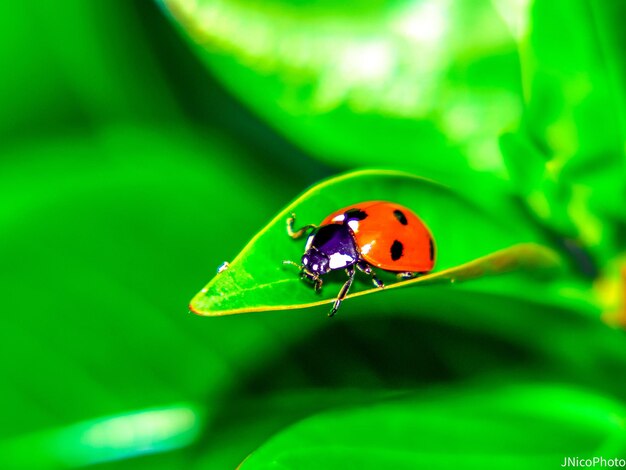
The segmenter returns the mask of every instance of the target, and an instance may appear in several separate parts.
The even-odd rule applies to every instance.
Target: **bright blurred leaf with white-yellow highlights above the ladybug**
[[[225,86],[327,164],[502,170],[524,2],[162,3]]]

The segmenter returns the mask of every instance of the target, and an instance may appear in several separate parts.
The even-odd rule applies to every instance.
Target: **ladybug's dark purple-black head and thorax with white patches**
[[[321,226],[309,236],[305,249],[302,266],[311,274],[343,269],[359,260],[352,231],[343,224]]]

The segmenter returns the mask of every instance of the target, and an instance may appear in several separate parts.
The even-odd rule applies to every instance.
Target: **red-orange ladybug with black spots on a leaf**
[[[294,230],[296,215],[287,219],[287,234],[298,239],[309,233],[301,264],[284,261],[300,269],[300,277],[322,288],[321,276],[345,269],[348,280],[328,316],[333,316],[348,294],[355,268],[371,276],[376,287],[384,285],[372,269],[397,273],[399,279],[425,274],[435,264],[433,237],[420,218],[400,204],[369,201],[333,212],[319,226]]]

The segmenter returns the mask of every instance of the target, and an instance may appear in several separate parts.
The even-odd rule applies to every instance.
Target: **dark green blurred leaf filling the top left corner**
[[[162,54],[146,34],[162,20],[156,5],[68,0],[13,7],[0,6],[0,60],[11,64],[0,77],[3,145],[182,117]]]

